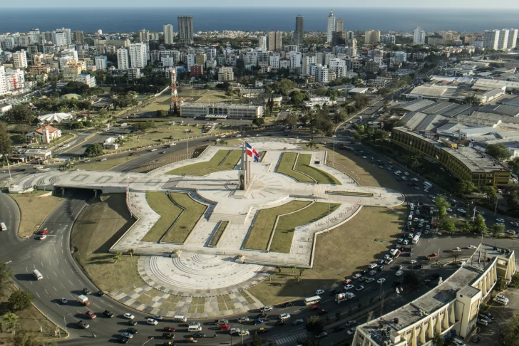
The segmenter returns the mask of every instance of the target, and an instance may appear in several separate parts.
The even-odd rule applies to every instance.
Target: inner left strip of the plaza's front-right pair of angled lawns
[[[269,238],[274,231],[274,223],[278,215],[291,213],[292,211],[304,208],[311,202],[309,201],[291,201],[282,206],[276,206],[269,209],[261,209],[258,211],[254,226],[250,230],[249,237],[245,243],[245,248],[253,250],[267,250]]]

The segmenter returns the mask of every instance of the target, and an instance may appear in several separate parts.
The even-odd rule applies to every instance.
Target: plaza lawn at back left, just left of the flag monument
[[[207,162],[188,164],[187,166],[173,169],[166,174],[202,176],[214,172],[234,169],[238,161],[240,161],[241,154],[241,150],[218,150]]]

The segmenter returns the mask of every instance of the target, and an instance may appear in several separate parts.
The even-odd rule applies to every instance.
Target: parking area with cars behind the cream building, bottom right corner
[[[515,313],[519,313],[519,289],[509,288],[503,292],[505,296],[510,298],[508,305],[501,305],[492,302],[488,312],[494,315],[493,323],[490,325],[479,325],[481,336],[480,342],[476,344],[469,340],[467,345],[485,345],[485,346],[501,346],[503,338],[500,337],[500,331],[504,330],[508,321]]]

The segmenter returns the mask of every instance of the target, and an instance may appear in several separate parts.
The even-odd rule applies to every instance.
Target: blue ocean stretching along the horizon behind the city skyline
[[[27,32],[31,28],[52,31],[71,28],[86,32],[102,29],[103,33],[162,31],[164,23],[177,16],[192,14],[195,31],[291,31],[295,17],[304,16],[305,31],[325,31],[328,8],[103,8],[103,9],[0,9],[0,33]],[[484,31],[494,28],[518,28],[519,10],[473,9],[367,9],[336,8],[336,19],[344,20],[346,31],[412,32],[416,26],[425,31]]]

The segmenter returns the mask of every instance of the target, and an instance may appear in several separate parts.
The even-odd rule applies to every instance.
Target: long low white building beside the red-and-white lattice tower
[[[261,105],[232,105],[230,103],[183,103],[182,117],[207,117],[220,119],[255,119],[263,115]]]

